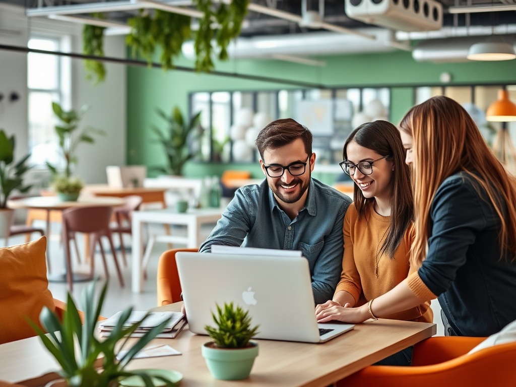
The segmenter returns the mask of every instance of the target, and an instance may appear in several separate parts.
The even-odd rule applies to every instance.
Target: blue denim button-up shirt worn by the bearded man
[[[199,251],[212,245],[301,250],[308,259],[315,303],[331,300],[341,276],[344,214],[351,199],[311,179],[307,201],[291,220],[267,180],[239,188]]]

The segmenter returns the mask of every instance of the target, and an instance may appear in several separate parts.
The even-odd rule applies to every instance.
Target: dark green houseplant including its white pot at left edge
[[[30,185],[23,184],[23,175],[30,169],[27,160],[30,154],[14,163],[14,136],[7,137],[0,129],[0,237],[9,236],[14,211],[7,208],[7,199],[12,191],[27,192]]]

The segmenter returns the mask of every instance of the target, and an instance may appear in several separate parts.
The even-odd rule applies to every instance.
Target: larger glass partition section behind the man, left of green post
[[[389,120],[389,107],[386,87],[190,94],[190,115],[202,111],[197,158],[201,162],[255,162],[257,133],[271,121],[293,118],[313,133],[318,164],[336,164],[353,128],[371,120]]]

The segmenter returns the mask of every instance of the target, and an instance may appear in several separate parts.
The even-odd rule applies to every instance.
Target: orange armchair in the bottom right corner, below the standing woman
[[[516,343],[468,355],[485,337],[430,337],[414,346],[412,366],[370,366],[337,382],[339,387],[516,385]]]

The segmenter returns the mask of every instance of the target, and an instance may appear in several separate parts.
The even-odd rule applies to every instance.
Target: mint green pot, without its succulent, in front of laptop
[[[254,358],[258,356],[258,343],[250,341],[246,348],[215,348],[213,341],[201,347],[209,372],[215,379],[245,379],[251,373]]]

